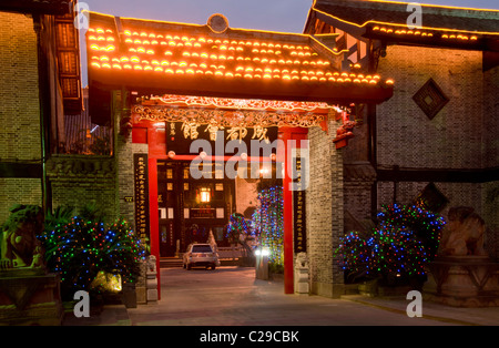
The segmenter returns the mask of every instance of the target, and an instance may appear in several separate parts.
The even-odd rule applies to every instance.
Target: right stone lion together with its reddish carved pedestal
[[[428,265],[427,297],[456,307],[499,306],[499,264],[485,252],[485,232],[472,207],[449,209],[439,256]]]

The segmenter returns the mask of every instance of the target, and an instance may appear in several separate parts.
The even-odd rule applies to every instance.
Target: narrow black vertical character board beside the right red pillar
[[[296,172],[303,173],[302,157],[299,151],[296,153]],[[303,184],[303,178],[298,175],[294,182],[299,186]],[[293,191],[293,239],[295,253],[306,253],[307,250],[307,235],[305,222],[305,190]]]

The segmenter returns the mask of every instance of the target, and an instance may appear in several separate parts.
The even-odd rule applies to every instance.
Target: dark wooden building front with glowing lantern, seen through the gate
[[[179,256],[191,243],[206,243],[210,233],[223,242],[224,227],[235,209],[234,180],[223,176],[218,163],[203,167],[212,172],[212,180],[193,178],[189,166],[187,161],[157,161],[161,257]]]

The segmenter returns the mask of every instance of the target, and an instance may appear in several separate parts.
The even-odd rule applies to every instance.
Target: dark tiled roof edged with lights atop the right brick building
[[[358,27],[368,23],[407,25],[408,2],[316,0],[313,9]],[[435,30],[499,34],[499,11],[421,4],[422,27]]]

